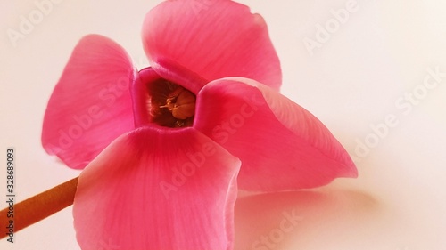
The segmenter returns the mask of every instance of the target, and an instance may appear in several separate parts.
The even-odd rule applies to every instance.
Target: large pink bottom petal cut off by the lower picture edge
[[[84,250],[232,249],[239,167],[193,128],[123,135],[79,176],[78,243]]]

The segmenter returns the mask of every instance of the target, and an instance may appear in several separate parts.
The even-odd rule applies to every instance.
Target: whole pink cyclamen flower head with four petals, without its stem
[[[85,167],[73,204],[82,249],[232,249],[237,185],[296,190],[357,175],[326,127],[277,92],[260,15],[192,2],[147,13],[150,68],[89,35],[54,88],[42,143]]]

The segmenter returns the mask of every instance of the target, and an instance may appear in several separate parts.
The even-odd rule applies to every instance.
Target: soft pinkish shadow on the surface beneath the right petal
[[[352,190],[242,197],[235,204],[235,250],[318,249],[313,246],[321,240],[349,240],[351,229],[373,228],[379,207],[376,198]]]

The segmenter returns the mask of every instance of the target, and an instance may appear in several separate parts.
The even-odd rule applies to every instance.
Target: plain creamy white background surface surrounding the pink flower
[[[15,46],[8,28],[19,30],[21,16],[29,18],[37,7],[34,0],[0,2],[0,165],[5,149],[14,147],[19,199],[78,175],[45,154],[40,133],[46,101],[79,38],[109,36],[141,69],[147,66],[142,21],[160,1],[60,2]],[[330,11],[348,1],[238,2],[268,23],[282,63],[282,93],[326,124],[355,157],[359,178],[318,190],[243,194],[235,208],[235,250],[444,249],[446,77],[431,89],[423,82],[427,69],[446,72],[446,2],[358,0],[358,10],[332,26],[312,55],[304,39],[318,42],[318,24],[335,25]],[[405,94],[414,90],[417,104],[408,104]],[[395,124],[377,137],[371,127],[387,116]],[[358,153],[367,140],[368,154]],[[301,221],[280,232],[286,213]],[[269,246],[255,244],[262,236]],[[78,249],[71,207],[18,232],[15,241],[2,239],[0,248]]]

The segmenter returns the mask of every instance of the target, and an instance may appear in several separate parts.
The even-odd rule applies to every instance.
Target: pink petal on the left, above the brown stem
[[[133,129],[129,85],[135,74],[119,44],[98,35],[82,38],[46,107],[46,152],[72,168],[83,168],[111,141]]]

